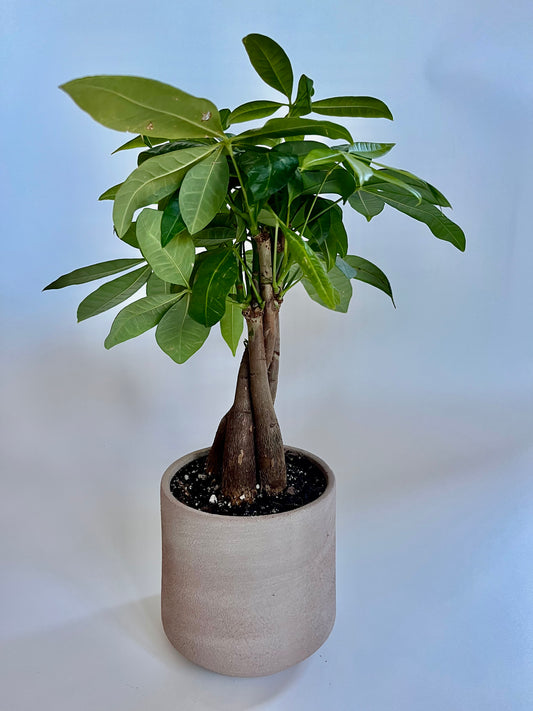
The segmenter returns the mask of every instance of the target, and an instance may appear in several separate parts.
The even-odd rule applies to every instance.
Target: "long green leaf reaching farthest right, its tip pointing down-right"
[[[464,252],[466,247],[464,232],[434,205],[427,202],[419,204],[416,198],[406,195],[401,188],[386,183],[369,184],[365,190],[379,195],[387,205],[391,205],[396,210],[424,222],[435,237],[451,242],[457,249]]]

